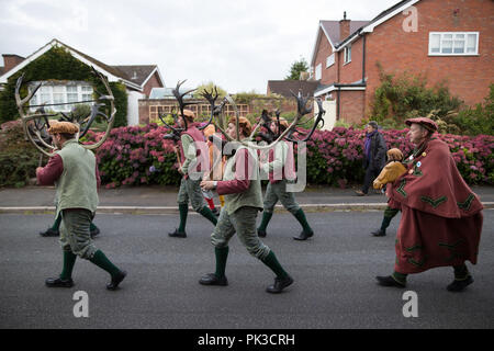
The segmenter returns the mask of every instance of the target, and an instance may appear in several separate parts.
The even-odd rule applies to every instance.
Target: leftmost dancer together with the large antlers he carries
[[[58,278],[49,278],[45,281],[48,287],[71,287],[72,268],[77,256],[87,259],[105,270],[111,275],[108,290],[116,290],[119,284],[126,276],[126,272],[115,267],[106,256],[96,248],[90,236],[90,223],[98,206],[97,186],[100,183],[96,157],[91,150],[100,147],[115,121],[116,110],[114,107],[114,97],[104,77],[93,69],[93,72],[101,79],[108,94],[100,97],[92,107],[92,113],[82,121],[68,117],[68,121],[48,122],[49,116],[43,112],[26,114],[24,111],[29,101],[40,89],[38,83],[27,95],[21,99],[20,91],[24,75],[18,78],[15,84],[15,103],[27,139],[44,155],[49,157],[48,163],[36,169],[36,178],[40,184],[56,185],[56,217],[61,213],[60,245],[64,250],[64,269]],[[87,101],[86,101],[87,102]],[[80,103],[80,102],[72,102]],[[49,105],[61,105],[55,103]],[[46,104],[48,105],[48,104]],[[30,105],[38,107],[40,105]],[[106,115],[99,111],[102,106],[110,107]],[[79,144],[78,138],[82,137],[91,127],[94,118],[100,115],[106,121],[106,131],[94,144]],[[49,144],[49,138],[44,137],[44,132],[53,136],[55,145]]]

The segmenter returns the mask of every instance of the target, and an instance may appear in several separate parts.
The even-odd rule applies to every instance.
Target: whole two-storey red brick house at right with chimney
[[[319,21],[312,53],[314,97],[336,101],[336,118],[359,122],[386,73],[446,82],[468,105],[494,82],[494,1],[404,0],[371,21]]]

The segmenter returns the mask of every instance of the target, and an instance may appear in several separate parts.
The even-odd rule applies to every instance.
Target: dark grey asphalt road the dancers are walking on
[[[450,268],[409,276],[406,290],[385,288],[374,276],[389,274],[394,262],[394,234],[374,238],[381,212],[310,213],[316,231],[299,242],[300,228],[289,214],[276,214],[265,242],[295,283],[280,295],[265,292],[273,274],[250,257],[236,237],[226,269],[229,285],[202,286],[214,271],[209,236],[212,226],[191,214],[187,239],[169,238],[176,215],[101,214],[96,245],[127,279],[115,292],[105,290],[108,274],[78,259],[72,288],[47,288],[57,275],[61,251],[56,238],[37,235],[53,215],[0,215],[0,328],[493,328],[494,211],[484,211],[475,282],[449,293]],[[89,297],[89,317],[76,318],[74,293]],[[405,291],[418,298],[418,317],[405,318]]]

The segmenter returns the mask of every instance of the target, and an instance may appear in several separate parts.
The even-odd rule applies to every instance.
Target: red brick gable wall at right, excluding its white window
[[[446,79],[450,92],[467,104],[482,102],[494,82],[494,1],[422,0],[415,7],[417,32],[403,31],[406,16],[400,13],[367,35],[366,99],[370,101],[380,84],[379,61],[389,73],[426,75],[429,87]],[[457,16],[456,9],[460,10]],[[428,56],[429,32],[480,32],[479,56]],[[351,65],[356,56],[353,52]]]

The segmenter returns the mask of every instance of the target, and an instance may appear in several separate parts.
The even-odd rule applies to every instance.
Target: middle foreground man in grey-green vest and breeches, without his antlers
[[[231,138],[237,137],[242,141],[248,141],[250,132],[251,125],[247,118],[232,117],[228,121],[226,134]],[[228,285],[225,275],[228,241],[237,233],[247,251],[268,265],[277,275],[274,284],[266,288],[268,293],[281,293],[283,288],[291,285],[293,279],[278,262],[274,252],[257,236],[257,213],[262,211],[257,152],[245,145],[239,145],[235,155],[229,156],[226,161],[223,180],[204,180],[201,182],[201,188],[203,190],[215,189],[220,195],[224,195],[225,206],[222,208],[218,223],[211,235],[216,257],[216,271],[201,278],[199,283],[202,285]]]

